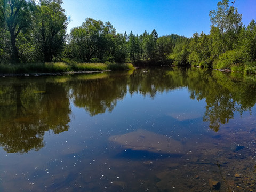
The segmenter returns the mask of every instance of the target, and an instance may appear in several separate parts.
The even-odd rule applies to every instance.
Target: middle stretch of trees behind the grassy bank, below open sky
[[[176,44],[187,38],[168,35],[158,38],[154,29],[140,36],[116,33],[110,22],[86,18],[81,26],[71,29],[65,56],[80,62],[166,62]]]

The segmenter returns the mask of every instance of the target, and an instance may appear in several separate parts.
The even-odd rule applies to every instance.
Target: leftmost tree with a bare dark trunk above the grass
[[[10,34],[14,62],[20,62],[16,41],[21,31],[26,32],[26,29],[30,27],[31,5],[33,2],[26,0],[0,1],[0,25]]]

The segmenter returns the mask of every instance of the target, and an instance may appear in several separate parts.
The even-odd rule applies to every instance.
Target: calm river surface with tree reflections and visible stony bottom
[[[256,80],[201,69],[0,79],[0,191],[255,191]]]

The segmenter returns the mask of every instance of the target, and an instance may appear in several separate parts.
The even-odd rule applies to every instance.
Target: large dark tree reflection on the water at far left
[[[31,82],[14,80],[1,86],[0,145],[7,153],[39,150],[46,131],[58,134],[69,128],[71,111],[65,87]]]

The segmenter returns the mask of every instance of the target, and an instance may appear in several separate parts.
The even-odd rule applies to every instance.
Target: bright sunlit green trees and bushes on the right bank
[[[215,69],[243,70],[256,72],[256,23],[252,19],[246,27],[237,8],[229,7],[227,0],[210,11],[211,30],[193,34],[188,44],[178,53],[170,55],[174,63],[206,66]],[[253,71],[251,71],[253,72]]]

